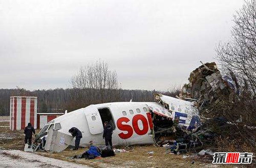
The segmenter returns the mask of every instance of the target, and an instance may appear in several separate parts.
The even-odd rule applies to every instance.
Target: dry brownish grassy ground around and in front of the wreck
[[[8,126],[9,122],[0,122],[0,126]],[[37,130],[38,131],[38,130]],[[13,149],[23,151],[23,131],[10,131],[9,127],[0,127],[0,149]],[[232,165],[213,165],[211,157],[198,157],[196,154],[166,154],[165,148],[154,145],[118,147],[129,152],[116,153],[115,157],[99,159],[70,159],[69,157],[82,154],[87,148],[70,151],[70,148],[61,153],[35,152],[35,154],[51,157],[68,162],[84,164],[94,168],[123,167],[123,168],[201,168],[201,167],[233,167]],[[147,154],[154,151],[154,154]],[[238,165],[236,165],[237,167]],[[241,165],[240,165],[241,166]],[[240,167],[239,166],[239,167]],[[253,167],[253,166],[252,166]]]

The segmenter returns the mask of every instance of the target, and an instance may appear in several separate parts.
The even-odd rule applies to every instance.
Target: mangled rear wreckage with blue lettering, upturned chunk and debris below
[[[189,150],[202,149],[203,145],[211,145],[215,141],[216,134],[207,127],[208,120],[211,122],[215,120],[218,126],[227,124],[225,118],[221,117],[208,118],[207,120],[201,115],[200,121],[199,111],[200,114],[203,111],[210,113],[208,111],[209,106],[218,102],[220,95],[224,95],[228,99],[231,93],[239,93],[236,77],[234,75],[222,77],[214,62],[202,64],[191,72],[189,83],[183,85],[179,96],[176,96],[180,99],[179,101],[184,101],[182,103],[184,107],[175,107],[175,102],[168,96],[154,95],[155,101],[168,109],[174,116],[173,124],[168,130],[172,131],[169,134],[175,141],[165,139],[158,142],[158,145],[166,147],[167,153],[186,153]],[[201,123],[202,121],[203,123]],[[203,152],[207,153],[207,150],[201,151],[200,154],[204,155]]]

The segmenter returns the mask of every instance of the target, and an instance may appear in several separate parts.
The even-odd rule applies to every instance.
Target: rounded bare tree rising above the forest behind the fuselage
[[[81,67],[78,74],[72,77],[71,84],[84,99],[94,103],[98,97],[98,103],[110,102],[119,89],[116,71],[109,70],[108,63],[100,60]]]

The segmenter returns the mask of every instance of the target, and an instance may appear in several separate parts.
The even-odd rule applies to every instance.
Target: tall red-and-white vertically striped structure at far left
[[[10,129],[21,130],[30,122],[37,126],[37,97],[10,97]]]

